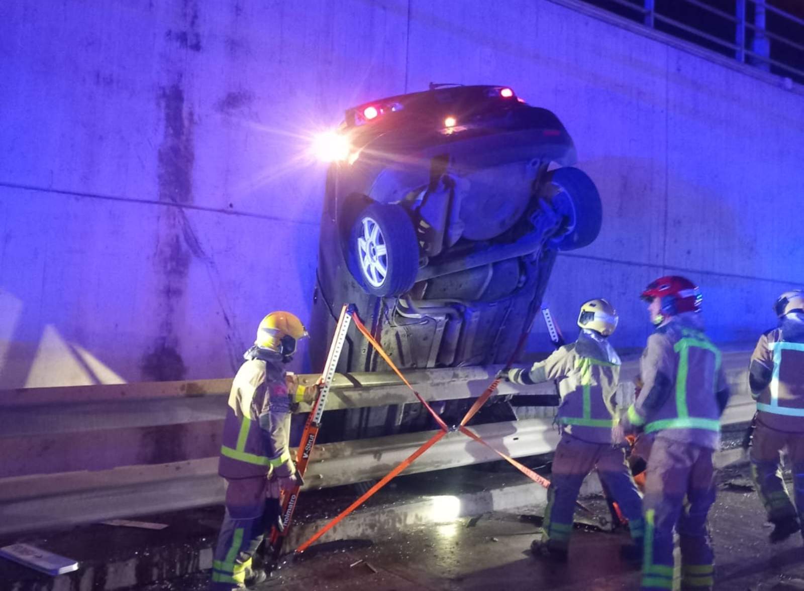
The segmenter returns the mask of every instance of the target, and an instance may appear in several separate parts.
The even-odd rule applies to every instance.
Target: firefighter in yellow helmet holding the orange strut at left
[[[279,520],[279,493],[297,483],[290,458],[291,405],[312,401],[317,386],[303,387],[285,371],[296,343],[308,336],[290,312],[263,318],[254,346],[232,382],[218,473],[226,479],[226,513],[212,564],[211,589],[246,589],[265,581],[252,556]]]

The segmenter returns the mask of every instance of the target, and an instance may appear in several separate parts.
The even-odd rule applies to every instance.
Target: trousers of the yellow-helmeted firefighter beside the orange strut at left
[[[211,591],[245,589],[252,557],[262,542],[265,523],[265,476],[226,479],[226,513],[212,555]]]

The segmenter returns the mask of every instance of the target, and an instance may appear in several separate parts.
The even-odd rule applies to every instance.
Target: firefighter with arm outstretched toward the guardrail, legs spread
[[[612,445],[620,358],[608,337],[617,327],[617,312],[606,300],[589,300],[580,307],[577,324],[576,342],[561,346],[530,369],[515,368],[507,374],[518,384],[555,380],[561,397],[556,417],[561,440],[552,463],[542,537],[533,541],[531,550],[536,556],[567,560],[580,485],[597,468],[601,483],[629,520],[634,546],[624,548],[624,556],[634,557],[634,548],[641,550],[642,545],[642,500],[626,464],[625,438]]]

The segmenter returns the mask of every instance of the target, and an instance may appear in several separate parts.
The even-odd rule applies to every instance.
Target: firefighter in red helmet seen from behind
[[[720,351],[704,334],[699,288],[670,275],[642,291],[650,335],[642,389],[621,425],[653,439],[647,460],[642,589],[673,588],[673,532],[681,545],[682,589],[711,589],[713,554],[707,514],[715,500],[712,455],[728,385]]]

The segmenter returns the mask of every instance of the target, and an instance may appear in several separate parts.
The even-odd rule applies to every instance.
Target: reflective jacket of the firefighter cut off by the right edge
[[[804,431],[804,322],[786,318],[759,338],[749,383],[765,426]]]

